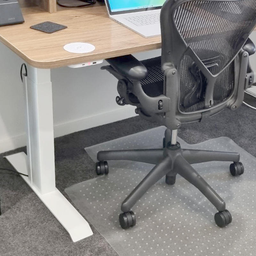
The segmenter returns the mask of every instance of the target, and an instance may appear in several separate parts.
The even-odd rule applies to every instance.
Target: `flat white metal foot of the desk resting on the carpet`
[[[24,152],[6,156],[5,158],[18,172],[28,174],[27,155]],[[73,205],[68,202],[57,188],[52,192],[42,195],[27,176],[21,175],[21,177],[68,231],[73,242],[93,234],[88,222],[76,211]]]

